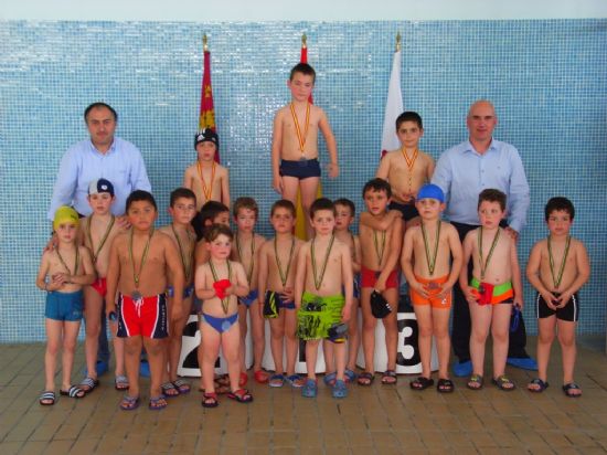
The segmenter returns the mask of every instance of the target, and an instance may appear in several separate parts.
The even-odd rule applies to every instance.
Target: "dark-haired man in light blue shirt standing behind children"
[[[90,138],[70,147],[63,156],[47,218],[52,221],[61,205],[72,205],[82,216],[89,215],[88,186],[93,180],[104,178],[114,186],[116,201],[111,204],[111,212],[124,224],[128,195],[135,190],[151,191],[143,158],[135,145],[114,136],[118,115],[111,106],[93,103],[85,109],[84,120]],[[102,309],[97,357],[97,373],[103,374],[109,362],[105,309]]]

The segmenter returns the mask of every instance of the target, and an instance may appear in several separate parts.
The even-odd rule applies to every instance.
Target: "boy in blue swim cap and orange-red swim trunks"
[[[407,229],[401,264],[419,328],[417,345],[422,375],[411,382],[413,390],[434,385],[430,378],[432,337],[438,350],[438,384],[441,393],[454,391],[449,379],[449,314],[451,288],[461,268],[461,244],[456,229],[440,220],[445,194],[436,184],[425,184],[415,201],[422,223]],[[452,263],[450,262],[452,256]]]

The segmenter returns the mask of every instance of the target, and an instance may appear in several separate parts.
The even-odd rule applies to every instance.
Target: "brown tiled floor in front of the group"
[[[530,339],[530,352],[534,339]],[[604,347],[599,341],[598,346]],[[584,346],[592,346],[584,343]],[[480,392],[456,380],[456,392],[413,392],[408,378],[398,385],[375,381],[352,387],[333,400],[321,385],[316,400],[298,391],[251,384],[255,402],[222,398],[220,406],[200,405],[198,381],[190,395],[152,412],[118,410],[113,378],[84,400],[62,398],[42,408],[43,345],[0,346],[0,454],[397,454],[397,453],[607,453],[607,359],[581,348],[578,400],[561,391],[560,350],[554,348],[550,382],[543,394],[524,384],[531,372],[509,369],[521,385]],[[82,347],[77,368],[83,367]]]

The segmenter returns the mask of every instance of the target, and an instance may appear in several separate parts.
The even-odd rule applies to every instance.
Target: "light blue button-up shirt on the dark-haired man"
[[[125,213],[127,198],[134,190],[151,191],[143,158],[135,145],[115,137],[109,150],[102,154],[90,139],[83,140],[72,146],[61,160],[49,220],[53,220],[61,205],[72,205],[83,215],[90,214],[86,199],[88,184],[100,178],[114,184],[116,201],[111,213],[116,215]]]

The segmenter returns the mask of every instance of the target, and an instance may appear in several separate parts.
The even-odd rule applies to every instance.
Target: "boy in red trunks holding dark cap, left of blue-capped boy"
[[[363,199],[369,215],[385,222],[393,219],[387,213],[387,204],[392,197],[390,183],[383,179],[372,179],[363,188]],[[391,212],[392,213],[392,212]],[[371,313],[371,294],[380,293],[391,307],[390,315],[383,319],[385,328],[385,346],[387,367],[382,377],[382,384],[396,383],[396,348],[398,330],[396,311],[398,307],[398,272],[397,264],[403,242],[403,223],[400,214],[385,231],[377,231],[362,222],[359,229],[361,242],[361,308],[363,317],[362,345],[364,351],[365,371],[359,375],[359,385],[371,385],[374,379],[375,325],[376,318]]]

